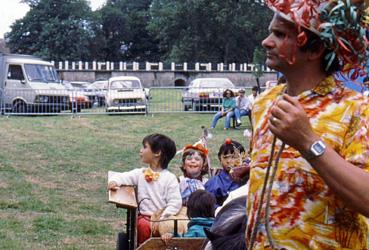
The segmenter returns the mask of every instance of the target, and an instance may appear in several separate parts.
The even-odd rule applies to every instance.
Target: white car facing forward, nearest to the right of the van
[[[139,78],[111,77],[105,95],[106,111],[145,112],[147,96]]]

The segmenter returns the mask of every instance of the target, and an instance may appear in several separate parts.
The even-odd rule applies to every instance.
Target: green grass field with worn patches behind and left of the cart
[[[114,249],[124,213],[107,203],[107,171],[141,166],[147,134],[169,135],[178,148],[197,141],[211,117],[0,116],[0,249]],[[247,144],[222,123],[209,141],[216,166],[226,137]],[[179,165],[177,156],[169,169],[179,174]]]

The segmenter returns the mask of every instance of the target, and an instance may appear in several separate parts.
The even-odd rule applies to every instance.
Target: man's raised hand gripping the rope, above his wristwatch
[[[319,139],[298,99],[287,94],[272,108],[268,124],[273,134],[302,154]]]

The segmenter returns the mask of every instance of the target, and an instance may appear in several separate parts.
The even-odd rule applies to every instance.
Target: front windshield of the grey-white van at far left
[[[58,74],[53,66],[25,64],[24,68],[30,82],[59,83]]]

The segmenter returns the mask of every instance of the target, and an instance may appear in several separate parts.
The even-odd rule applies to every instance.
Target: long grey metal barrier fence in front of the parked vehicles
[[[239,88],[232,89],[235,93]],[[223,101],[220,88],[153,87],[116,93],[108,90],[4,89],[1,115],[88,115],[214,113]],[[251,93],[246,88],[246,95]]]

